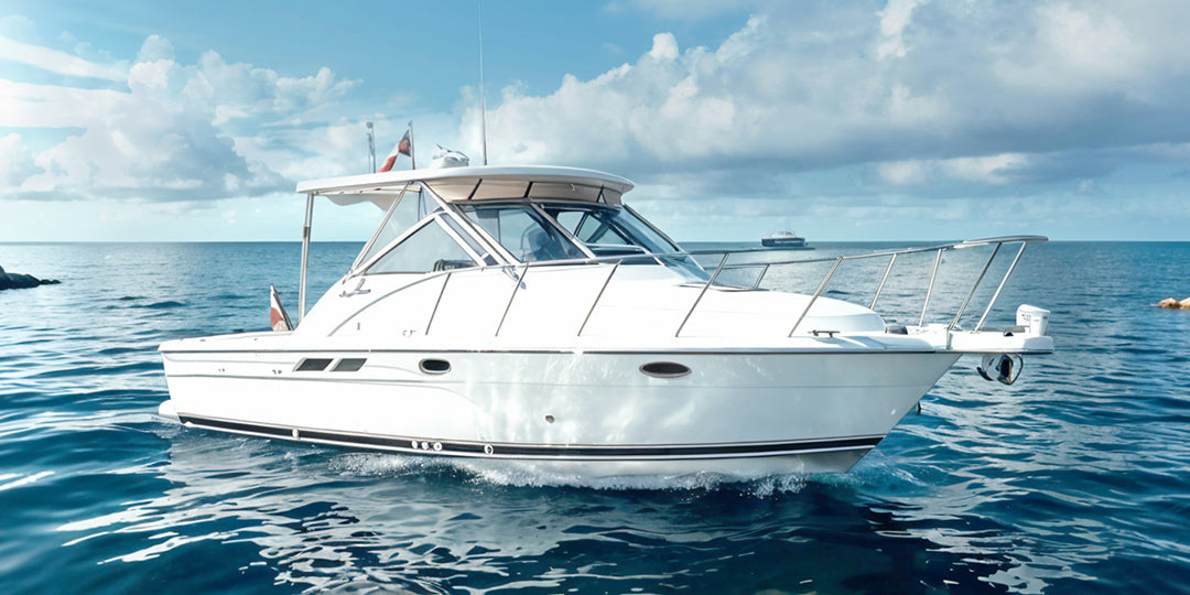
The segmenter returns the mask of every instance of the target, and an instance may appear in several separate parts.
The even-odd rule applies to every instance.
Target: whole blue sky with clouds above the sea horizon
[[[298,240],[367,121],[478,163],[481,21],[489,163],[678,240],[1190,240],[1183,0],[0,0],[0,242]]]

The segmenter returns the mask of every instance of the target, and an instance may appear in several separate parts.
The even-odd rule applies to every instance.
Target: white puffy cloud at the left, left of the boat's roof
[[[115,82],[0,79],[0,127],[68,131],[38,150],[21,134],[0,138],[0,190],[15,199],[201,201],[276,192],[292,182],[302,148],[269,151],[269,137],[303,126],[306,113],[352,86],[325,68],[286,77],[214,51],[182,64],[158,36],[145,39],[134,61],[115,64],[7,38],[0,46],[20,46],[29,65],[67,81]]]

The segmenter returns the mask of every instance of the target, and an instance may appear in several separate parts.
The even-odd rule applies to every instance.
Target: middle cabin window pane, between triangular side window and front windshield
[[[464,212],[520,262],[587,257],[562,231],[530,207],[468,206]]]

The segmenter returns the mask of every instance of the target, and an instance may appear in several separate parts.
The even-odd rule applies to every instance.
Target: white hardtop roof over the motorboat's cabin
[[[383,207],[406,188],[416,192],[411,186],[415,183],[452,202],[541,198],[619,205],[620,196],[632,189],[628,180],[594,169],[480,165],[311,180],[298,183],[298,192],[326,196],[338,205],[371,201]]]

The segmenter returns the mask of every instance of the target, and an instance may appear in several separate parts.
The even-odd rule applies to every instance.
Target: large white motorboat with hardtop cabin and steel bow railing
[[[589,477],[845,471],[963,353],[989,353],[989,377],[1010,382],[1015,355],[1053,350],[1036,308],[1009,332],[982,328],[998,288],[973,330],[958,321],[976,287],[952,322],[926,314],[942,253],[1020,244],[1007,281],[1045,238],[837,257],[818,292],[795,294],[759,286],[801,262],[684,252],[622,203],[631,188],[549,167],[302,182],[296,327],[163,344],[159,411],[192,427]],[[384,215],[307,313],[318,196]],[[897,258],[920,252],[938,255],[921,321],[888,325],[872,308]],[[840,265],[870,258],[890,261],[871,305],[822,295]],[[754,283],[720,282],[744,273]]]

